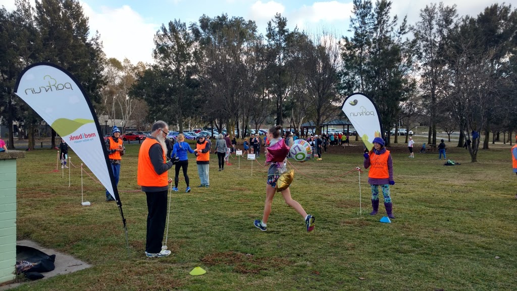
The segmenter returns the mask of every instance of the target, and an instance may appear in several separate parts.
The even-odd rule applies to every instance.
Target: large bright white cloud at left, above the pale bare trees
[[[81,5],[89,18],[90,33],[99,32],[107,57],[116,57],[119,61],[127,57],[133,64],[153,62],[153,37],[160,25],[144,19],[128,5],[102,6],[101,11],[93,10],[84,2]]]

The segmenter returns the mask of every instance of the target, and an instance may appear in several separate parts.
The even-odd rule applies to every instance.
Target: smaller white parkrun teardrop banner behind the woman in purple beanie
[[[373,148],[374,138],[384,138],[381,116],[370,97],[363,93],[348,95],[343,102],[342,110],[369,151]]]

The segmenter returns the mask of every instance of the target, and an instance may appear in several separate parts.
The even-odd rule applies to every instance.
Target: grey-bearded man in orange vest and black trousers
[[[172,182],[167,174],[172,168],[172,161],[167,162],[166,158],[165,138],[168,132],[169,126],[165,122],[155,122],[151,127],[151,134],[142,142],[138,153],[138,184],[147,196],[147,257],[165,257],[171,254],[171,251],[162,249],[167,216],[167,190]]]

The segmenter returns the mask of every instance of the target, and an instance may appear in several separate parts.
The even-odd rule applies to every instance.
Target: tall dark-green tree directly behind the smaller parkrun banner
[[[400,113],[414,80],[413,43],[402,37],[408,33],[406,19],[396,29],[397,16],[391,18],[391,2],[354,1],[351,30],[342,45],[344,68],[341,72],[343,94],[361,91],[379,108],[384,128],[390,128]]]

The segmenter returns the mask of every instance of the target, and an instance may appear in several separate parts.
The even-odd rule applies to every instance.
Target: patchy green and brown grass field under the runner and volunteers
[[[139,146],[126,148],[119,190],[138,189]],[[437,154],[417,151],[409,159],[405,144],[398,147],[392,151],[397,219],[391,224],[378,222],[385,213],[382,203],[379,215],[368,214],[367,171],[361,175],[362,215],[357,171],[333,178],[362,168],[360,147],[335,147],[323,161],[294,164],[293,198],[316,217],[309,234],[281,195],[273,201],[268,231],[253,226],[265,198],[266,169],[259,164],[253,165],[253,176],[244,159],[240,169],[232,160],[232,166],[218,172],[211,155],[210,188],[199,189],[190,156],[192,192],[182,192],[180,176],[180,192],[172,194],[172,255],[154,259],[144,255],[143,193],[120,193],[128,258],[120,214],[114,202],[104,201],[102,186],[85,176],[84,198],[92,206],[81,206],[80,171],[72,168],[69,188],[66,174],[62,179],[61,172],[52,172],[55,151],[27,152],[18,161],[18,239],[34,240],[94,267],[16,290],[515,289],[517,200],[510,146],[480,151],[474,164],[465,150],[451,149],[448,158],[462,163],[453,167],[442,166]],[[207,273],[189,275],[196,266]]]

